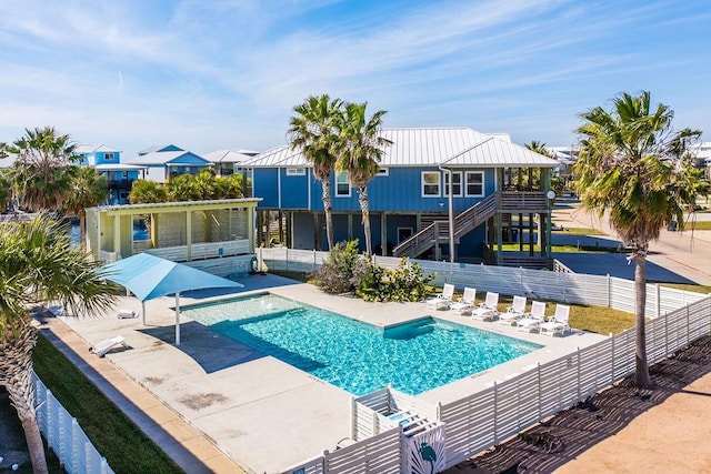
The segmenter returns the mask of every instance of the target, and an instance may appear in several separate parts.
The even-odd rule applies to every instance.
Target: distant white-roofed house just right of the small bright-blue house
[[[212,167],[204,158],[173,144],[141,150],[138,158],[127,160],[127,163],[143,167],[142,178],[158,183],[166,183],[179,174],[198,174]]]

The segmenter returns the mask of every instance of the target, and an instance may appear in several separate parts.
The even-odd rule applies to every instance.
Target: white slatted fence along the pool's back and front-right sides
[[[273,270],[310,272],[323,262],[326,252],[290,249],[260,249],[258,258]],[[399,259],[375,258],[381,266],[395,268]],[[502,266],[417,262],[425,274],[437,272],[435,284],[469,285],[479,291],[497,291],[529,297],[590,304],[634,312],[634,282],[599,275],[547,272]],[[645,313],[647,351],[650,364],[693,341],[711,334],[711,296],[648,284]],[[634,329],[612,335],[594,345],[559,360],[538,364],[482,392],[438,406],[437,420],[445,427],[445,458],[451,467],[468,457],[515,435],[545,416],[574,405],[634,372]],[[374,393],[373,396],[380,396]],[[423,409],[423,407],[420,407]],[[373,453],[403,456],[401,431],[381,432],[378,413],[354,404],[354,437],[363,438],[343,450],[326,453],[286,473],[351,473],[370,470]],[[363,422],[372,420],[372,422]],[[372,434],[371,437],[365,435]],[[399,438],[391,437],[397,434]],[[329,463],[343,456],[341,463]],[[359,457],[361,456],[361,457]],[[392,457],[377,472],[398,472],[401,461]],[[380,460],[380,458],[379,458]]]

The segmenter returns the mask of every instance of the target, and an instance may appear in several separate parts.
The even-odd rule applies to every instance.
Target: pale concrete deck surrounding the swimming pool
[[[369,303],[356,297],[324,294],[313,285],[272,276],[252,276],[250,279],[256,280],[250,280],[250,283],[269,286],[273,294],[380,326],[432,315],[545,345],[514,361],[419,395],[432,403],[461,399],[537,363],[570,354],[578,347],[604,339],[582,332],[565,337],[527,334],[498,322],[478,322],[447,311],[428,310],[424,303]],[[272,285],[270,282],[277,283]],[[234,295],[264,291],[250,285],[246,290]],[[181,305],[219,297],[224,297],[224,292],[191,292],[181,295]],[[130,347],[117,349],[107,354],[106,360],[150,392],[160,402],[161,407],[157,410],[164,416],[172,415],[187,422],[191,430],[212,442],[247,472],[286,471],[320,455],[323,450],[334,450],[340,440],[349,437],[351,394],[274,357],[262,356],[187,316],[181,319],[181,345],[173,345],[173,304],[172,297],[147,302],[146,326],[141,317],[120,320],[116,317],[117,312],[106,316],[58,320],[79,336],[74,344],[81,346],[83,341],[86,349],[104,339],[124,336]],[[121,297],[118,307],[141,311],[134,297]],[[50,331],[61,330],[56,322],[49,326]],[[96,356],[94,360],[106,362]],[[160,440],[159,444],[163,445]],[[187,470],[189,472],[234,472],[234,467],[222,471],[204,463],[204,470],[196,470],[193,467],[199,466],[200,456],[187,458],[187,462],[192,462],[192,467]],[[213,464],[218,462],[216,456],[209,458]]]

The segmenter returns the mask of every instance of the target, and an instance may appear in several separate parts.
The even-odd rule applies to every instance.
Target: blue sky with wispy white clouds
[[[0,141],[266,151],[328,93],[388,128],[568,147],[642,90],[711,141],[709,24],[711,0],[2,0]]]

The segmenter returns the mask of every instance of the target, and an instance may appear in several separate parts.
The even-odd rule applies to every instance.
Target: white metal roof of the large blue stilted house
[[[505,133],[485,134],[467,127],[383,129],[381,167],[554,168],[555,160],[511,143]],[[300,152],[282,145],[242,163],[250,168],[310,167]]]

